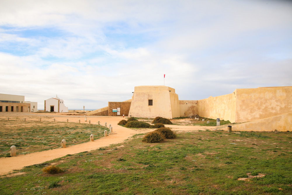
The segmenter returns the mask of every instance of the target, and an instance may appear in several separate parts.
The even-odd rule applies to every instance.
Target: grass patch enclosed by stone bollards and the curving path
[[[104,130],[108,130],[106,127],[93,124],[23,120],[0,120],[0,126],[0,151],[8,150],[12,145],[17,149],[41,149],[60,143],[59,146],[53,147],[58,148],[61,147],[62,139],[66,139],[67,142],[78,142],[87,139],[90,134],[98,137]],[[17,155],[32,152],[16,151]],[[4,156],[10,156],[10,153],[0,154],[0,157]]]

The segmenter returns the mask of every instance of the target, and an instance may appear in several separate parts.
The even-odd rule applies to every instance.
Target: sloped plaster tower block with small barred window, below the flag
[[[149,99],[153,100],[152,106],[148,106]],[[175,94],[175,89],[167,86],[135,87],[129,115],[150,118],[179,117],[178,95]]]

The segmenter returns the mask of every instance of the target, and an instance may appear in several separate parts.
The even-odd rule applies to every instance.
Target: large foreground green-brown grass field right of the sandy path
[[[1,177],[0,194],[292,194],[291,132],[178,132],[157,144],[142,137]],[[65,172],[43,173],[51,163]]]

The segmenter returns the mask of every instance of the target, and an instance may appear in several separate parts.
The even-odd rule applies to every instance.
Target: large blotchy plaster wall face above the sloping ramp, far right
[[[259,120],[292,112],[292,87],[236,89],[236,94],[235,122]]]

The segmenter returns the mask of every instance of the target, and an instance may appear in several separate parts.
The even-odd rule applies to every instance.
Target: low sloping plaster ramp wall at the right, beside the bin
[[[227,128],[223,128],[226,130]],[[232,126],[232,131],[291,131],[292,113],[272,116]]]

